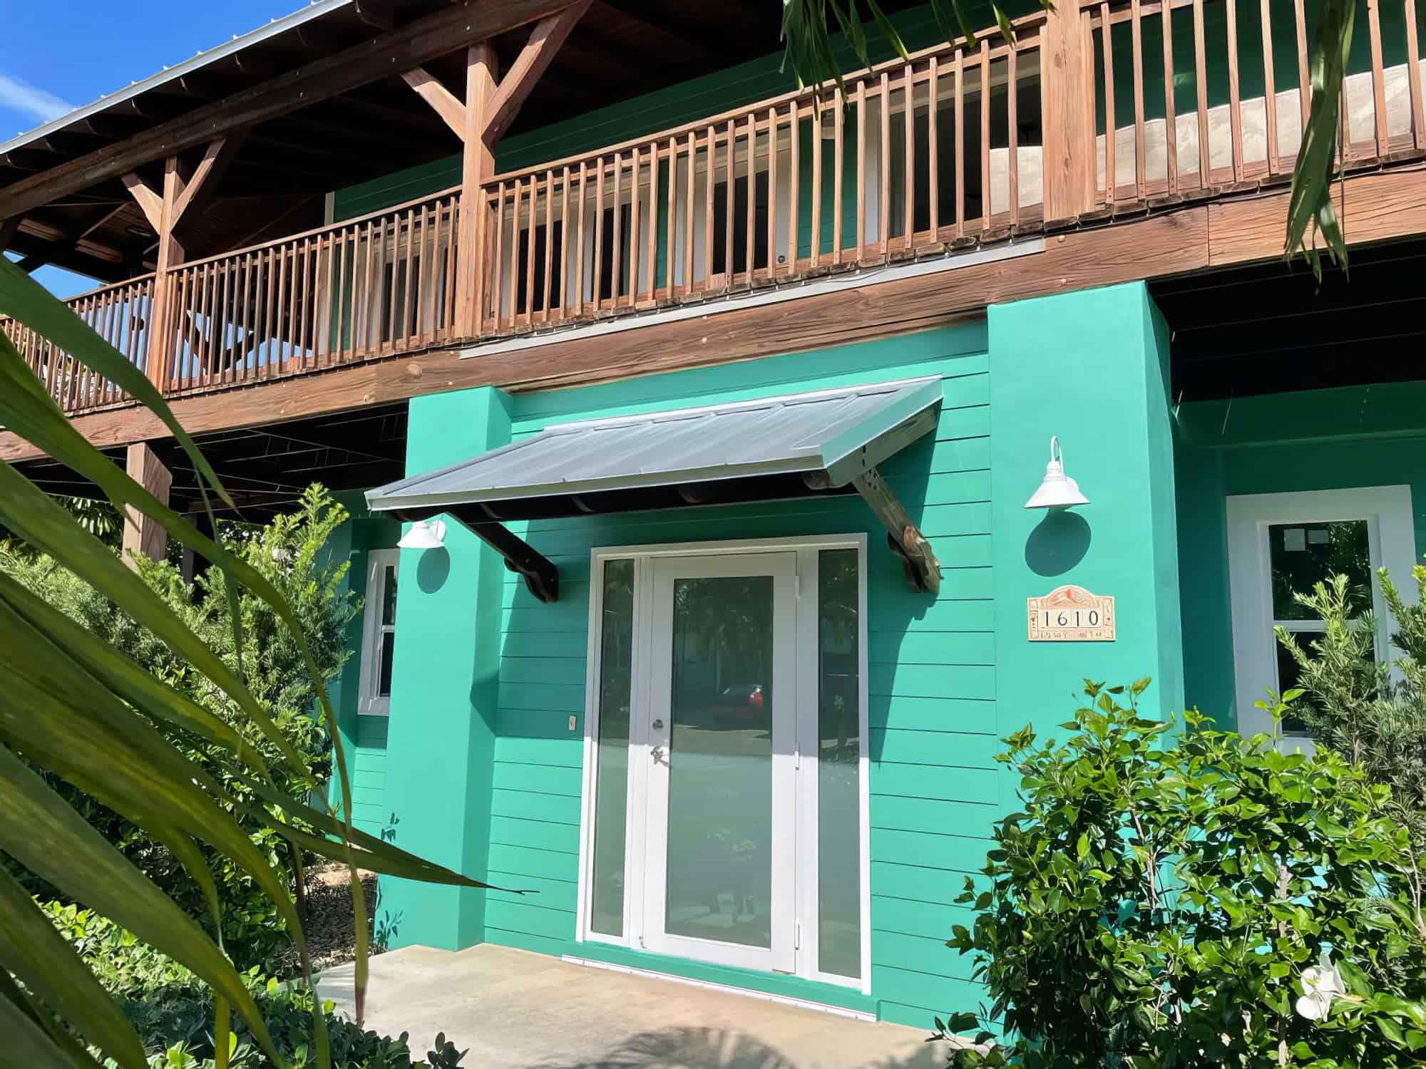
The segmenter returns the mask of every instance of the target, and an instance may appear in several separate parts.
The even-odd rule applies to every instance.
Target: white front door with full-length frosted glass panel
[[[652,564],[645,946],[793,972],[797,554]]]

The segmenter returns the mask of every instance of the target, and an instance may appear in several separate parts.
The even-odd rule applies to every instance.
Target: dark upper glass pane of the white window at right
[[[1352,614],[1372,607],[1372,557],[1366,520],[1275,523],[1268,527],[1272,562],[1272,619],[1312,620],[1293,594],[1310,594],[1330,576],[1348,577]]]

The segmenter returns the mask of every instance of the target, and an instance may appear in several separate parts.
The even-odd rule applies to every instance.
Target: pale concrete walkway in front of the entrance
[[[352,1012],[352,966],[318,991]],[[408,946],[371,959],[366,1028],[438,1031],[471,1069],[943,1069],[947,1049],[914,1028],[870,1023],[653,976],[482,945]]]

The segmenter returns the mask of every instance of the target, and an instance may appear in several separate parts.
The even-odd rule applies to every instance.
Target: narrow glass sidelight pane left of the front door
[[[599,649],[599,755],[595,784],[592,931],[623,935],[629,693],[633,667],[633,560],[605,562]]]

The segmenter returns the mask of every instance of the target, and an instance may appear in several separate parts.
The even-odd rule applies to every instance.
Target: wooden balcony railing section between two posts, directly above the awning
[[[482,334],[878,264],[1040,218],[1040,24],[486,190]],[[1022,130],[1032,131],[1031,140]],[[1020,165],[1027,154],[1031,168]]]

